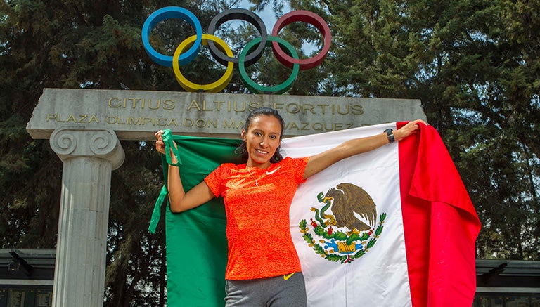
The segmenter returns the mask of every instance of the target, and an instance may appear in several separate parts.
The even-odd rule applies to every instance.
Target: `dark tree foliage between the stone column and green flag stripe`
[[[156,235],[147,229],[162,186],[161,161],[153,144],[126,141],[122,148],[126,159],[111,186],[106,302],[158,306],[165,300],[165,233],[162,225]]]

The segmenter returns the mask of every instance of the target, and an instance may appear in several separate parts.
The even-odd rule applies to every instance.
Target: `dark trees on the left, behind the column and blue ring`
[[[229,3],[169,5],[198,12],[207,25]],[[44,88],[181,90],[171,70],[149,60],[141,44],[144,20],[162,6],[146,0],[0,2],[2,248],[56,244],[62,162],[47,140],[32,140],[25,131]],[[162,24],[153,46],[172,54],[179,32],[187,34],[182,24]],[[160,158],[153,143],[122,141],[122,147],[126,160],[111,185],[105,305],[163,305],[164,233],[150,235],[141,223],[150,221],[162,185]]]

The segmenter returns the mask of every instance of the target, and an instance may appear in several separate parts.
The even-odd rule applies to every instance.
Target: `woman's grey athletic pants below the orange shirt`
[[[304,307],[302,272],[256,280],[226,280],[226,307]]]

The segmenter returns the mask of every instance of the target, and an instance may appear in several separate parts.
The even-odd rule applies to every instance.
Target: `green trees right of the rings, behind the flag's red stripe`
[[[334,88],[420,98],[483,224],[477,256],[539,259],[539,1],[291,1],[328,12]]]

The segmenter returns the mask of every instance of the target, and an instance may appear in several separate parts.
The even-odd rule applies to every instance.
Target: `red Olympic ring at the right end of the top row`
[[[293,68],[294,64],[298,64],[300,65],[300,70],[309,70],[316,65],[321,64],[330,50],[330,43],[332,41],[330,27],[328,27],[328,24],[323,20],[323,18],[316,13],[312,13],[310,11],[292,11],[281,16],[281,18],[276,21],[274,29],[272,29],[272,36],[277,37],[283,27],[293,22],[307,22],[319,29],[319,32],[321,32],[324,37],[324,45],[321,51],[311,58],[295,59],[285,53],[285,51],[281,49],[281,46],[279,46],[276,41],[272,41],[272,50],[281,64],[289,68]]]

